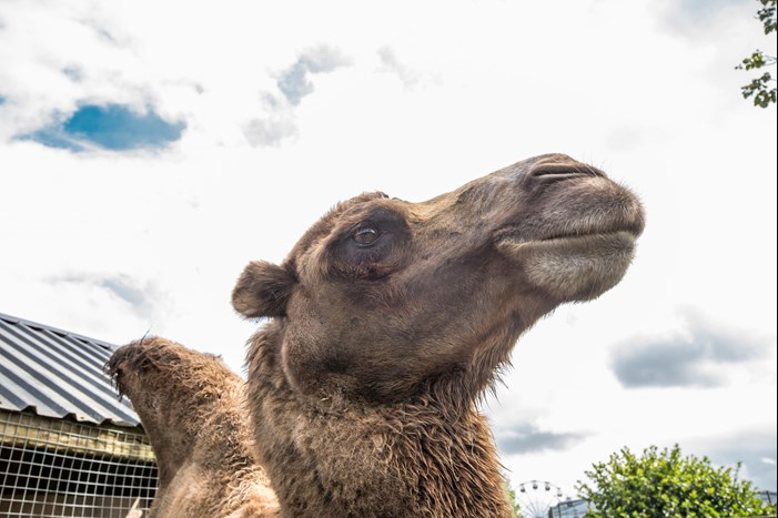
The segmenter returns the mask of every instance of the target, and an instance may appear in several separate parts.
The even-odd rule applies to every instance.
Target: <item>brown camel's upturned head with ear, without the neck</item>
[[[615,286],[643,226],[638,200],[602,171],[542,155],[422,203],[340,203],[281,265],[250,263],[232,301],[274,319],[301,395],[468,399],[538,318]]]

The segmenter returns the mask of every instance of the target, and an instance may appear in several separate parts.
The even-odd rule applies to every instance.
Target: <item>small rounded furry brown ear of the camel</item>
[[[249,263],[232,291],[232,306],[249,318],[285,316],[294,276],[284,267],[265,261]]]

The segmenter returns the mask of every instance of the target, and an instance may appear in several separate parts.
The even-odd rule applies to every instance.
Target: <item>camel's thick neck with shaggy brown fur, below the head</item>
[[[250,352],[259,457],[284,516],[511,516],[486,420],[469,406],[302,398],[274,349]],[[254,404],[254,402],[256,402]]]

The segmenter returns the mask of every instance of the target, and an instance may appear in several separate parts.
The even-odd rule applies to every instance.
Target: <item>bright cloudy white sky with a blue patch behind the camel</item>
[[[776,108],[746,0],[0,0],[0,313],[242,372],[230,304],[337,201],[562,152],[639,194],[625,280],[483,405],[514,486],[679,444],[776,489]],[[775,71],[774,71],[775,72]]]

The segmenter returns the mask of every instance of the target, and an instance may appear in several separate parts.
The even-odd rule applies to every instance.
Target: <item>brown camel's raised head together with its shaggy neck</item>
[[[565,155],[424,203],[339,204],[233,291],[249,406],[283,516],[511,516],[476,409],[517,337],[618,283],[640,204]]]

